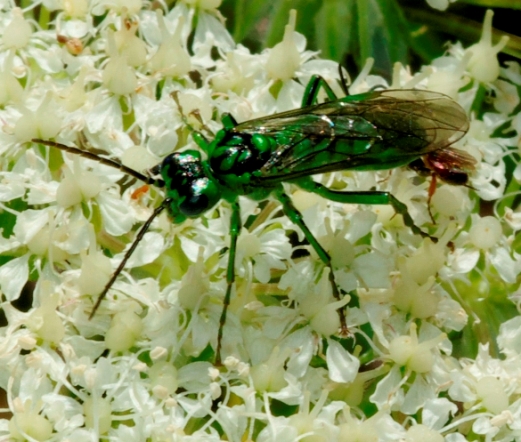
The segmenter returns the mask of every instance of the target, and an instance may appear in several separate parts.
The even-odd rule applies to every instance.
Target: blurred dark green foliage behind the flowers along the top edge
[[[459,0],[446,11],[424,0],[223,0],[220,10],[235,41],[258,52],[282,39],[296,9],[308,49],[354,72],[373,57],[372,72],[389,77],[397,61],[413,69],[430,63],[446,41],[477,42],[487,8],[495,12],[494,41],[509,35],[504,54],[521,58],[521,0]]]

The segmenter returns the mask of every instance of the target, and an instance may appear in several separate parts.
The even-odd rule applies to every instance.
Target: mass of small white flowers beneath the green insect
[[[455,147],[479,165],[471,189],[438,187],[435,224],[429,180],[413,171],[315,177],[338,190],[390,191],[438,243],[391,207],[287,186],[331,256],[343,301],[280,205],[241,197],[223,366],[214,352],[226,202],[182,224],[161,214],[89,320],[162,193],[32,139],[143,172],[197,148],[191,131],[217,132],[225,112],[245,121],[300,107],[314,74],[342,95],[337,65],[305,50],[294,13],[281,43],[251,54],[225,30],[219,0],[159,5],[49,0],[22,11],[2,2],[0,387],[11,418],[0,420],[0,439],[521,440],[521,212],[505,203],[521,182],[521,70],[499,65],[505,41],[492,44],[491,12],[476,45],[455,44],[418,74],[397,65],[391,84],[369,75],[368,61],[349,88],[430,89],[468,111]],[[499,213],[480,215],[480,199],[499,200]],[[13,301],[31,289],[32,305],[20,309]],[[352,336],[343,339],[336,309],[346,303]],[[476,345],[474,359],[461,342]]]

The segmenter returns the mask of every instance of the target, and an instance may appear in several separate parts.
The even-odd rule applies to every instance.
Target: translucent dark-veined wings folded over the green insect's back
[[[275,138],[280,147],[258,174],[269,181],[408,164],[459,140],[468,120],[446,95],[386,90],[250,120],[233,130]]]

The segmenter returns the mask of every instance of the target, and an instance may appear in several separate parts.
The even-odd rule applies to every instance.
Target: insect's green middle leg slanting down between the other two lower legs
[[[297,210],[297,208],[293,205],[291,202],[291,199],[288,195],[284,193],[282,188],[277,189],[274,192],[275,197],[282,203],[282,207],[284,209],[284,213],[286,216],[293,221],[297,226],[300,227],[300,230],[304,233],[304,236],[308,240],[309,244],[315,252],[317,252],[317,255],[321,259],[321,261],[329,267],[329,282],[331,283],[331,287],[333,289],[333,295],[336,299],[340,300],[342,299],[340,292],[338,291],[338,286],[336,285],[335,281],[335,275],[333,273],[333,267],[331,266],[331,257],[329,254],[324,250],[324,248],[320,245],[320,243],[317,241],[313,233],[309,230],[308,226],[304,223],[304,220],[302,218],[302,214]],[[348,335],[348,329],[346,324],[346,315],[344,312],[344,309],[341,308],[338,310],[338,315],[340,317],[340,326],[341,326],[341,335],[347,336]]]

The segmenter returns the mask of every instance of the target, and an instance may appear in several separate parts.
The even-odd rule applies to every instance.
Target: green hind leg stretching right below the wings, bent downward
[[[406,226],[416,234],[421,235],[424,238],[429,238],[432,242],[438,242],[438,238],[435,238],[428,233],[421,230],[409,214],[407,206],[398,201],[391,193],[382,192],[377,190],[367,191],[356,191],[356,192],[341,192],[336,190],[328,189],[327,187],[319,184],[313,180],[302,180],[298,183],[300,187],[308,192],[316,193],[328,200],[336,201],[343,204],[390,204],[393,206],[396,213],[399,213],[403,217],[403,222]]]

